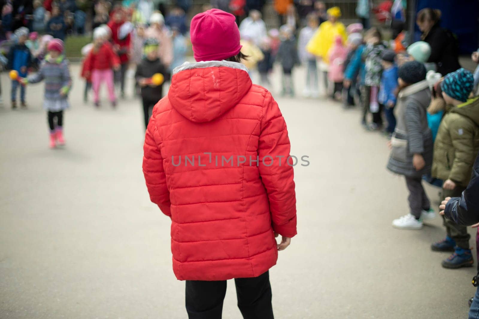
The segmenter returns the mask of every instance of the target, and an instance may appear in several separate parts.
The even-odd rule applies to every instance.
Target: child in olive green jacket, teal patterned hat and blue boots
[[[466,189],[479,151],[479,97],[468,99],[474,85],[472,73],[460,68],[441,84],[446,115],[434,143],[432,176],[444,180],[443,197],[458,197]],[[472,266],[469,234],[465,226],[444,218],[446,238],[432,244],[433,251],[454,252],[443,260],[445,268]]]

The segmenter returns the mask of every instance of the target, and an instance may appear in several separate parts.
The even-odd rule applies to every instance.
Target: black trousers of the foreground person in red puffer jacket
[[[269,272],[253,278],[236,278],[238,308],[245,319],[274,319]],[[186,281],[189,319],[221,319],[226,280]]]

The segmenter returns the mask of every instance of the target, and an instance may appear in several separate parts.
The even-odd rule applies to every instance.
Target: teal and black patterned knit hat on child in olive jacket
[[[472,73],[460,68],[444,77],[441,88],[445,94],[461,102],[468,100],[474,86]]]

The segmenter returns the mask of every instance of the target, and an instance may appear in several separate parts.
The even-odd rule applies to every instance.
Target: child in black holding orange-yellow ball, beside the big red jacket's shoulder
[[[151,83],[150,78],[156,73],[162,74],[165,79],[169,77],[166,66],[161,63],[158,57],[158,46],[158,41],[154,38],[145,41],[143,51],[146,56],[137,66],[137,72],[135,74],[135,78],[141,87],[145,128],[148,127],[153,107],[163,98],[163,83],[156,85]]]

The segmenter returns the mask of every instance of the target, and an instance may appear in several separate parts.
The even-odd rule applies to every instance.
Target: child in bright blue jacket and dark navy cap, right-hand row
[[[385,50],[381,55],[381,65],[383,73],[381,75],[381,85],[379,87],[378,102],[384,105],[384,113],[388,120],[386,132],[392,134],[396,128],[396,118],[394,117],[394,106],[396,105],[395,90],[398,87],[398,67],[394,63],[396,53],[392,50]]]

